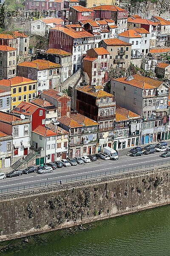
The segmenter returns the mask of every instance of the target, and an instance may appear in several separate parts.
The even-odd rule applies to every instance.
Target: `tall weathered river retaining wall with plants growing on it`
[[[0,241],[170,203],[170,166],[0,196]]]

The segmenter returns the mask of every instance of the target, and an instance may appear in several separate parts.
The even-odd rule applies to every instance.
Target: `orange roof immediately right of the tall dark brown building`
[[[130,119],[141,118],[138,114],[116,105],[116,122],[127,121]]]

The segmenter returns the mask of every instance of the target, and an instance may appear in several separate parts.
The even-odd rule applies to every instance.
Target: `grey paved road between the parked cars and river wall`
[[[47,186],[51,184],[69,183],[74,180],[84,180],[86,178],[113,175],[117,172],[128,170],[143,169],[151,166],[158,166],[170,163],[170,157],[160,157],[160,153],[143,155],[142,157],[119,157],[119,160],[97,160],[82,165],[62,167],[48,174],[31,173],[21,177],[6,178],[0,180],[0,193],[11,192],[15,190],[27,189],[38,186]]]

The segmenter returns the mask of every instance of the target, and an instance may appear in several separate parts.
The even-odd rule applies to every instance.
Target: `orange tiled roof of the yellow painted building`
[[[23,76],[15,76],[10,79],[2,79],[0,80],[0,85],[4,86],[11,86],[11,85],[18,85],[18,84],[31,84],[36,83],[37,80],[31,80]]]

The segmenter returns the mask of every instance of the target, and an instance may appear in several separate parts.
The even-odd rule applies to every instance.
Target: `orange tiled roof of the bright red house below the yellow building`
[[[20,110],[17,110],[20,108]],[[17,105],[16,108],[12,111],[13,113],[24,113],[27,116],[31,116],[39,107],[30,103],[30,102],[21,102]],[[22,109],[25,109],[26,112],[22,112]]]

